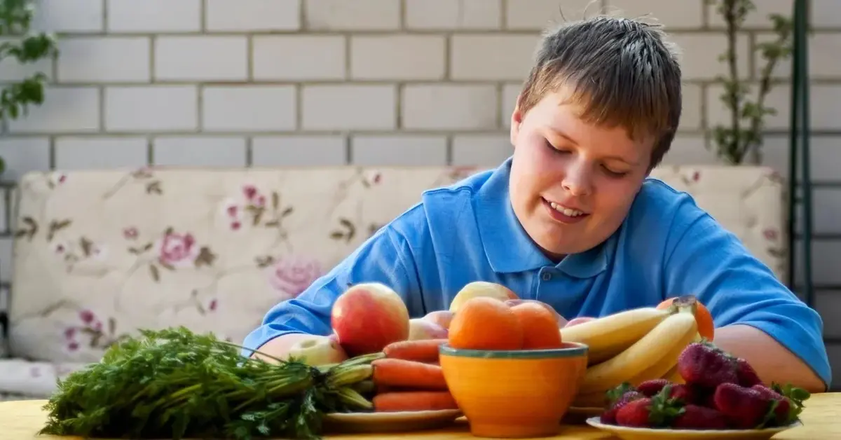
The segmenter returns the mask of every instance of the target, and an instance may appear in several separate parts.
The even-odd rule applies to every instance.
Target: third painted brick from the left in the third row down
[[[205,87],[202,127],[206,131],[281,131],[295,128],[294,86]]]

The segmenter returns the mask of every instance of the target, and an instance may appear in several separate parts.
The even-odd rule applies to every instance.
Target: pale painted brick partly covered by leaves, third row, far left
[[[8,127],[12,133],[88,133],[99,130],[99,111],[95,87],[46,87],[44,103]]]

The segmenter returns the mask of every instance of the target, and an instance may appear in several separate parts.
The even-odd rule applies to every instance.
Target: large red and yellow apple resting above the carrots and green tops
[[[384,284],[356,284],[336,299],[331,326],[349,356],[377,353],[409,337],[409,310]]]

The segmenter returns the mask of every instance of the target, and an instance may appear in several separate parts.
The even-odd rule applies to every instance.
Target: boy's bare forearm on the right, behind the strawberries
[[[715,343],[728,353],[746,359],[765,384],[791,383],[812,393],[826,390],[807,363],[758,328],[744,325],[717,328]]]

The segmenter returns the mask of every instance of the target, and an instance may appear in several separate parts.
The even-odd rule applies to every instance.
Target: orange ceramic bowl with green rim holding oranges
[[[557,435],[587,371],[587,346],[547,350],[439,348],[447,387],[475,437]]]

